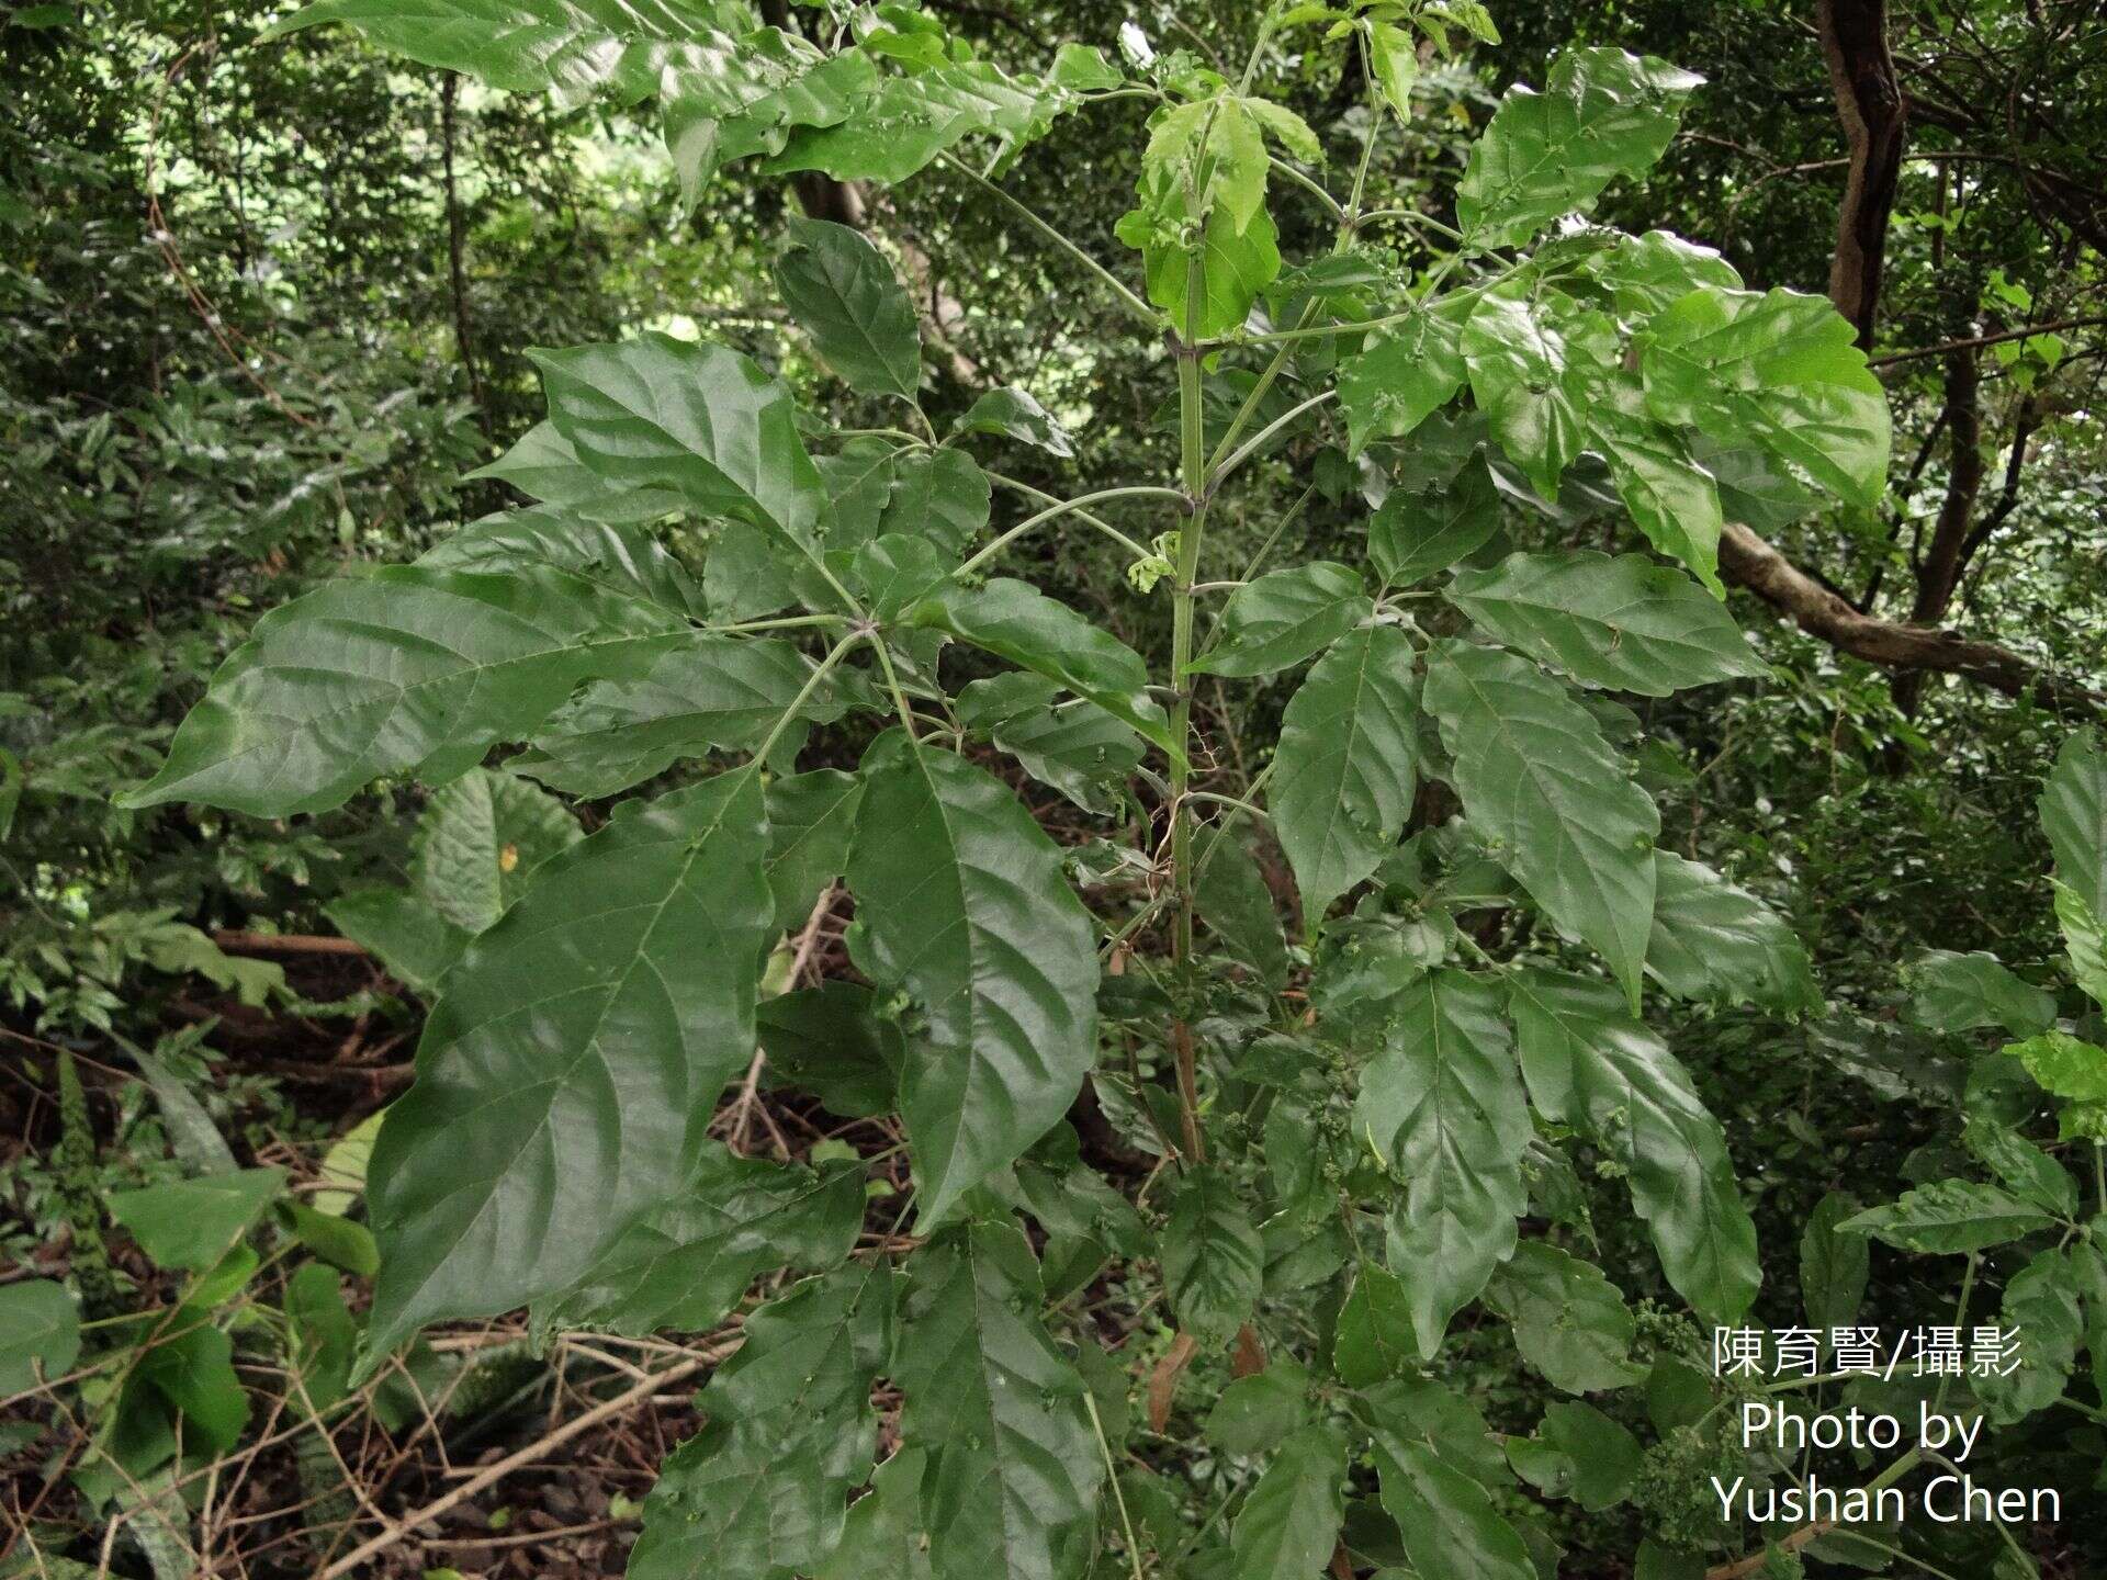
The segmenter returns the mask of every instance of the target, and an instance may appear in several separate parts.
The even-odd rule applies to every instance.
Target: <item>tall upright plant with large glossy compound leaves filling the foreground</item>
[[[1879,497],[1888,413],[1850,324],[1587,221],[1700,86],[1620,48],[1511,88],[1448,217],[1372,213],[1422,61],[1496,36],[1475,0],[1273,6],[1241,76],[1138,29],[1016,76],[906,6],[826,42],[718,11],[320,0],[284,27],[655,103],[689,202],[737,160],[988,187],[1161,348],[1176,457],[1079,497],[988,470],[990,445],[1066,457],[1089,432],[1020,388],[938,432],[925,291],[796,219],[782,301],[898,428],[710,341],[535,352],[548,417],[480,476],[537,503],[257,624],[129,805],[289,817],[415,779],[510,857],[461,860],[434,824],[419,889],[337,910],[436,994],[371,1157],[362,1371],[520,1306],[708,1329],[788,1270],[668,1458],[632,1576],[1538,1574],[1523,1485],[1597,1510],[1660,1481],[1580,1397],[1709,1395],[1698,1325],[1757,1293],[1721,1129],[1641,1011],[1820,1001],[1776,914],[1656,847],[1616,697],[1764,678],[1719,596],[1724,520]],[[1264,91],[1271,59],[1338,40],[1370,93],[1344,171]],[[1001,187],[1106,99],[1153,103],[1131,280]],[[1287,202],[1330,251],[1281,257]],[[1298,556],[1287,512],[1228,562],[1209,525],[1289,445],[1365,493],[1365,546]],[[1612,512],[1627,550],[1511,552],[1511,510]],[[708,531],[700,577],[670,520]],[[1121,544],[1169,607],[1167,664],[1003,575],[1058,533]],[[1273,739],[1195,712],[1201,678],[1281,676]],[[801,767],[822,737],[855,767]],[[1020,784],[1060,798],[1064,841]],[[579,836],[550,792],[613,807]],[[836,885],[858,980],[763,996]],[[870,1207],[862,1161],[710,1135],[756,1045],[839,1112],[898,1114],[906,1203]],[[1688,1315],[1635,1315],[1584,1256],[1582,1150]],[[1127,1454],[1127,1361],[1087,1315],[1108,1283],[1167,1329],[1148,1430],[1226,1359],[1186,1401],[1195,1447],[1262,1468],[1212,1515]],[[1479,1315],[1576,1397],[1504,1454],[1439,1380]],[[1658,1574],[1736,1540],[1658,1506]]]

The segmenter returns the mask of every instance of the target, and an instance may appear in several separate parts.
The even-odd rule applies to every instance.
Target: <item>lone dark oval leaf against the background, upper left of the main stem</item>
[[[851,390],[914,400],[921,388],[914,303],[862,232],[792,215],[790,244],[775,259],[775,291]]]

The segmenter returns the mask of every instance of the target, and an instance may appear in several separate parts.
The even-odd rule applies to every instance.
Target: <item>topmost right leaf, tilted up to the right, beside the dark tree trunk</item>
[[[1566,51],[1542,93],[1509,88],[1471,147],[1458,223],[1485,246],[1517,246],[1559,215],[1587,211],[1614,179],[1660,158],[1702,80],[1652,55]]]

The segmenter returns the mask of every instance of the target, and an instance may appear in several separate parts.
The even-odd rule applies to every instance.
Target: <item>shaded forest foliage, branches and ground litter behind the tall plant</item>
[[[1068,40],[1112,51],[1123,25],[1235,63],[1254,25],[1230,0],[929,11],[1020,70]],[[828,25],[803,6],[761,13]],[[1022,482],[1072,497],[1163,472],[1178,447],[1161,348],[1110,333],[1094,282],[967,179],[933,169],[864,190],[735,166],[689,211],[655,133],[619,112],[424,72],[350,29],[257,42],[278,17],[263,4],[0,11],[0,1283],[63,1277],[91,1319],[169,1298],[105,1201],[177,1178],[194,1125],[301,1188],[341,1186],[358,1167],[343,1138],[409,1083],[426,984],[348,944],[333,912],[415,881],[419,790],[295,819],[122,811],[114,796],[152,771],[261,609],[346,567],[411,558],[514,499],[464,474],[539,417],[527,348],[706,335],[839,400],[771,278],[786,221],[811,213],[866,230],[908,278],[940,345],[925,394],[940,428],[1009,383],[1087,434],[1077,459],[1005,455]],[[2092,411],[2107,350],[2107,34],[2075,0],[1886,13],[1833,0],[1820,17],[1753,0],[1517,2],[1496,19],[1498,44],[1424,51],[1418,118],[1370,171],[1372,209],[1443,202],[1498,91],[1540,80],[1557,51],[1667,57],[1707,86],[1654,173],[1597,215],[1702,238],[1755,289],[1831,295],[1894,409],[1877,508],[1793,520],[1772,558],[1724,554],[1732,609],[1776,678],[1681,693],[1643,720],[1662,845],[1785,912],[1827,996],[1797,1022],[1755,1009],[1656,1020],[1728,1129],[1766,1266],[1755,1321],[1791,1325],[1816,1203],[1888,1201],[1960,1154],[1974,1045],[1901,1013],[1919,956],[1989,950],[2061,984],[2033,803],[2107,689],[2107,457]],[[1833,72],[1856,86],[1842,116]],[[1367,116],[1351,53],[1289,53],[1271,86],[1334,164],[1351,162]],[[1005,175],[1119,270],[1112,232],[1146,110],[1096,105],[1066,124],[1058,156]],[[1283,202],[1277,217],[1283,253],[1325,244],[1319,209]],[[1405,225],[1382,240],[1407,261],[1424,244]],[[893,419],[870,411],[874,426]],[[1311,554],[1357,556],[1365,503],[1344,457],[1285,451],[1260,476],[1216,527],[1226,546],[1258,548],[1302,512]],[[1555,512],[1515,531],[1521,546],[1620,546],[1612,527]],[[702,569],[704,544],[681,548]],[[1153,661],[1169,649],[1163,600],[1129,581],[1117,548],[1039,537],[1013,558]],[[1271,739],[1285,687],[1237,695],[1203,687],[1199,706],[1224,737]],[[841,744],[845,765],[855,748]],[[1070,817],[1051,796],[1032,805],[1056,832]],[[1287,893],[1279,862],[1268,878]],[[843,925],[815,916],[786,965],[839,975]],[[1123,1146],[1125,1123],[1098,1119],[1108,1146]],[[735,1098],[727,1129],[803,1161],[883,1148],[765,1087]],[[1578,1213],[1620,1201],[1608,1176],[1576,1182]],[[1660,1293],[1629,1213],[1595,1218],[1627,1293]],[[1938,1321],[1955,1279],[1951,1260],[1875,1247],[1865,1321]],[[356,1281],[346,1291],[356,1308]],[[341,1308],[333,1281],[331,1300]],[[1134,1334],[1123,1361],[1148,1376],[1169,1344],[1161,1315],[1138,1289],[1089,1300],[1108,1336]],[[327,1329],[327,1310],[312,1323]],[[270,1363],[251,1357],[257,1403],[185,1532],[118,1529],[103,1510],[137,1487],[112,1481],[95,1498],[65,1479],[80,1451],[72,1411],[97,1405],[95,1380],[57,1407],[23,1397],[0,1422],[0,1574],[80,1572],[57,1567],[72,1555],[91,1574],[164,1576],[188,1572],[183,1551],[217,1574],[320,1572],[386,1527],[375,1521],[447,1494],[457,1470],[577,1422],[567,1447],[449,1506],[371,1572],[615,1574],[664,1443],[691,1420],[676,1403],[598,1411],[638,1357],[541,1355],[523,1336],[457,1325],[419,1355],[421,1403],[390,1397],[407,1371],[379,1380],[371,1407],[320,1439],[327,1451],[282,1430],[299,1411],[284,1414],[282,1390],[270,1411]],[[322,1342],[295,1334],[295,1348]],[[1460,1355],[1454,1380],[1496,1428],[1538,1418],[1547,1390],[1502,1331],[1466,1336]],[[2107,1439],[2094,1393],[2080,1393],[2092,1403],[2037,1416],[1995,1449],[2000,1477],[2065,1489],[2063,1525],[2019,1532],[2044,1574],[2107,1561],[2094,1487]],[[1142,1456],[1235,1496],[1235,1470]],[[1576,1555],[1635,1551],[1631,1510],[1572,1519],[1559,1536]],[[1936,1561],[1974,1576],[2000,1553],[1993,1532],[1970,1529]],[[1631,1569],[1576,1557],[1561,1572]]]

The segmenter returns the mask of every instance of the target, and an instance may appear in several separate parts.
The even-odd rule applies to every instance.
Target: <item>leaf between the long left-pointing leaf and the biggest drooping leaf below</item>
[[[647,674],[571,697],[512,767],[571,796],[611,796],[712,748],[759,748],[811,672],[813,661],[788,640],[689,632]],[[799,718],[830,723],[843,712],[841,691],[822,685]]]

